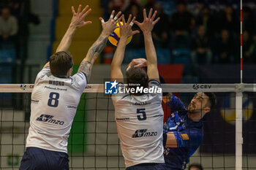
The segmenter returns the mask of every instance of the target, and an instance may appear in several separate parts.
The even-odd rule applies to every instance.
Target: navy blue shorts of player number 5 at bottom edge
[[[165,163],[140,163],[129,166],[126,170],[166,170]]]

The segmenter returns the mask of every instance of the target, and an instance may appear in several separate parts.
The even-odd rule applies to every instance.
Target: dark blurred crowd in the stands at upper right
[[[256,12],[246,6],[255,2],[244,2],[243,61],[256,63]],[[161,19],[153,30],[154,45],[170,50],[172,55],[177,49],[189,51],[189,62],[195,68],[199,64],[240,62],[240,1],[196,0],[187,4],[183,0],[112,0],[108,5],[108,11],[121,10],[126,17],[132,14],[138,21],[143,20],[143,8],[156,9]],[[167,9],[172,6],[173,9]],[[130,48],[143,48],[143,34],[132,39]],[[173,57],[170,58],[173,63]]]

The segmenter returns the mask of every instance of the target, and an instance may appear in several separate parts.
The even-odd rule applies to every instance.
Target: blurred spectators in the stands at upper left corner
[[[29,23],[38,25],[39,17],[31,13],[30,0],[1,0],[0,12],[0,55],[6,54],[3,50],[12,50],[15,58],[25,62]]]

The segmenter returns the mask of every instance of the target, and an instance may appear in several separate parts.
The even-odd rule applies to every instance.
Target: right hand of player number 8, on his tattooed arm
[[[115,18],[113,18],[114,14],[115,14],[115,10],[111,12],[110,18],[108,19],[107,22],[105,22],[103,18],[99,18],[99,20],[102,22],[102,33],[107,36],[113,33],[113,31],[116,28],[118,28],[118,26],[116,26],[116,23],[118,23],[121,20],[121,18],[118,18],[121,15],[121,11],[117,13]]]

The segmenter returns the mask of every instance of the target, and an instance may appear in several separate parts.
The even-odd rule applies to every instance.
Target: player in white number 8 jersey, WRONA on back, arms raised
[[[90,79],[94,61],[105,47],[108,36],[116,28],[116,20],[108,22],[102,18],[102,33],[90,47],[86,58],[80,63],[78,73],[72,74],[72,55],[67,52],[76,28],[86,26],[84,21],[91,12],[89,6],[78,12],[72,7],[73,18],[56,53],[34,82],[31,94],[31,117],[29,136],[26,139],[26,152],[20,169],[64,170],[69,169],[67,139],[80,101],[80,96]],[[112,12],[113,16],[114,11]],[[116,17],[121,15],[118,12]],[[50,67],[49,67],[50,66]]]

